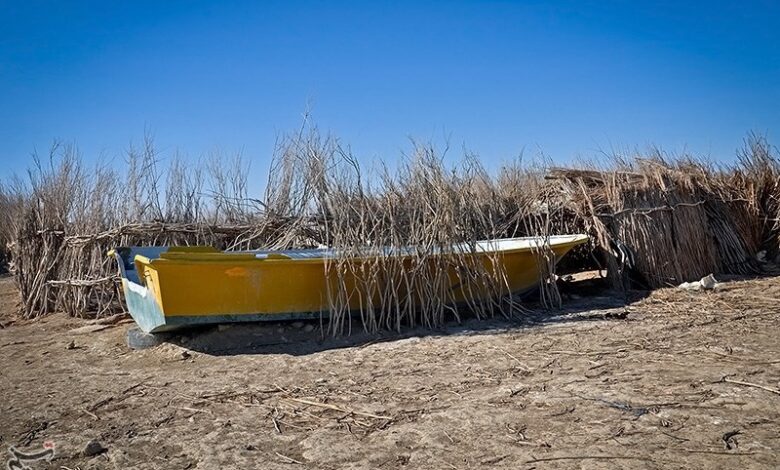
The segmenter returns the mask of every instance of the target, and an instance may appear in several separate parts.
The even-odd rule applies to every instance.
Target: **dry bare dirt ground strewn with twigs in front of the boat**
[[[14,321],[6,278],[0,458],[49,442],[29,468],[778,468],[780,278],[722,287],[434,332],[236,326],[131,351],[129,323]]]

